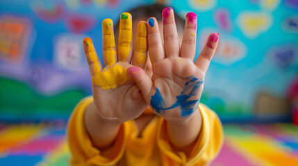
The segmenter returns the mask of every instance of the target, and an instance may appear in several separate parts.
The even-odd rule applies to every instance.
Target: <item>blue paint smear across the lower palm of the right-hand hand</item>
[[[194,111],[196,111],[197,106],[199,105],[199,100],[189,100],[190,97],[197,95],[199,91],[199,87],[204,84],[202,79],[197,79],[194,76],[185,78],[189,80],[184,84],[184,89],[181,92],[181,95],[177,95],[177,101],[171,106],[167,107],[165,105],[165,100],[163,100],[163,96],[160,94],[158,88],[156,88],[156,93],[151,95],[150,105],[157,113],[165,113],[168,109],[174,109],[176,107],[180,107],[181,116],[184,118],[185,116],[190,116]],[[186,93],[186,91],[190,91],[190,93]]]

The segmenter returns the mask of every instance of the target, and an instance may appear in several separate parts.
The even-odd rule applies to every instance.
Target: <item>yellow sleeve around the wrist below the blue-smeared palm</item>
[[[173,151],[167,136],[166,122],[160,120],[157,142],[163,165],[206,165],[217,156],[224,141],[222,123],[216,113],[204,104],[199,104],[199,110],[202,127],[189,157],[183,152]]]

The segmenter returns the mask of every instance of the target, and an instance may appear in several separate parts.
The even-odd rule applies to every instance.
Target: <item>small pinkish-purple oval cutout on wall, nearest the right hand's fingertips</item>
[[[228,9],[221,8],[215,11],[214,14],[215,22],[221,30],[231,32],[233,30],[233,25],[231,21],[231,14]]]

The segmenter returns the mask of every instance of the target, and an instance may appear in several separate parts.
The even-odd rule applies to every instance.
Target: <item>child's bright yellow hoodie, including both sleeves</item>
[[[119,127],[113,147],[106,149],[110,156],[92,147],[85,129],[84,113],[93,101],[92,97],[78,103],[68,123],[68,143],[72,153],[72,165],[206,165],[217,156],[223,143],[224,133],[217,115],[204,104],[199,104],[203,124],[190,156],[174,151],[166,132],[166,122],[156,116],[138,138],[138,128],[133,120]],[[100,129],[99,129],[100,130]]]

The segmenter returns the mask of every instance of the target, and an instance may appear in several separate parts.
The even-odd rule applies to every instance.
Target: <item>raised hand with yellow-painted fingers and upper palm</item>
[[[104,19],[103,30],[103,68],[90,38],[84,39],[85,55],[92,77],[92,93],[97,114],[103,120],[125,122],[141,115],[147,107],[142,93],[133,80],[126,77],[126,68],[144,68],[147,60],[147,24],[141,21],[135,49],[132,44],[131,15],[120,16],[119,44],[115,47],[113,21]],[[133,63],[131,59],[133,58]]]

